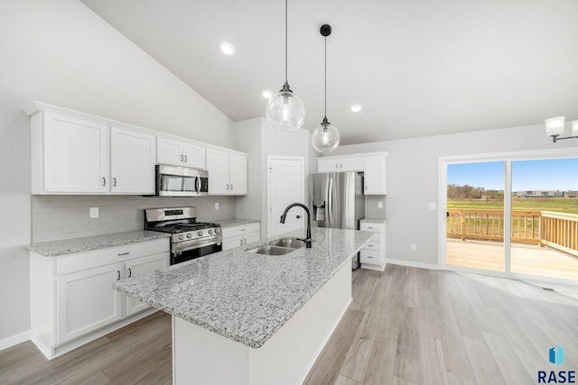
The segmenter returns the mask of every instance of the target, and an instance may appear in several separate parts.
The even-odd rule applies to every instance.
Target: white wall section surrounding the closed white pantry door
[[[311,172],[316,172],[316,152],[311,144],[311,133],[301,129],[296,133],[276,133],[263,117],[249,119],[235,124],[238,150],[250,153],[249,193],[237,200],[237,216],[261,220],[261,236],[267,237],[267,157],[303,157],[304,197],[307,199],[307,180]]]

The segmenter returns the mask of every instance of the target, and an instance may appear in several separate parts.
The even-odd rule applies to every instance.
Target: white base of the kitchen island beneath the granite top
[[[305,380],[351,301],[351,261],[262,347],[172,316],[172,383],[298,384]]]

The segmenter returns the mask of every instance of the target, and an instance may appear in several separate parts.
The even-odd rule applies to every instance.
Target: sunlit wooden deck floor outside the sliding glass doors
[[[448,238],[445,245],[448,265],[504,271],[503,243]],[[511,270],[522,274],[578,280],[578,258],[549,247],[512,243]]]

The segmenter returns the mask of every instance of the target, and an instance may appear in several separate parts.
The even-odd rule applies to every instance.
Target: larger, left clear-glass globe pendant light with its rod
[[[285,0],[285,84],[278,94],[271,97],[265,111],[271,128],[279,133],[294,133],[303,126],[305,106],[294,95],[287,82],[287,0]]]

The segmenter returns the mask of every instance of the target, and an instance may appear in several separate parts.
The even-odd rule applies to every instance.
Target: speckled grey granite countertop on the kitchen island
[[[283,234],[303,237],[304,230]],[[252,348],[263,346],[373,233],[312,229],[312,248],[282,256],[249,243],[113,285],[172,316]]]

